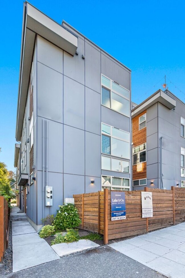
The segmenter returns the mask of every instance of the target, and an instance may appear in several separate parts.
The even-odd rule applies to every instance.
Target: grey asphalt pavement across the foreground
[[[0,269],[1,271],[2,269]],[[162,278],[165,277],[109,246],[71,254],[3,278]]]

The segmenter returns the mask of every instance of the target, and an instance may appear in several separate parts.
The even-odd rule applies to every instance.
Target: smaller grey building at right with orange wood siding
[[[133,190],[184,187],[185,104],[158,90],[131,114]]]

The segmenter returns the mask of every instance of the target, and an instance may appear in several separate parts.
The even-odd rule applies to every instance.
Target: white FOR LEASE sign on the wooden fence
[[[153,217],[152,192],[141,192],[142,218]]]

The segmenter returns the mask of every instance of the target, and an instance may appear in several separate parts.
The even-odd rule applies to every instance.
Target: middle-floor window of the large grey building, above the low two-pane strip
[[[130,133],[102,123],[102,153],[130,159]]]

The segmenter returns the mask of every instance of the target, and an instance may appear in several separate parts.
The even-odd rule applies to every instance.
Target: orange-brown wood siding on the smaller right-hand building
[[[147,127],[139,130],[139,117],[145,113],[147,113],[147,110],[143,111],[132,119],[132,148],[144,144],[147,141]],[[132,179],[139,180],[141,178],[147,178],[146,162],[132,165]]]

